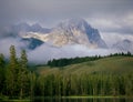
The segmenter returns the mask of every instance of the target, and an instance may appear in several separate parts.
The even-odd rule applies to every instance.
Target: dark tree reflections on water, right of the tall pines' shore
[[[133,99],[35,99],[33,102],[133,102]]]

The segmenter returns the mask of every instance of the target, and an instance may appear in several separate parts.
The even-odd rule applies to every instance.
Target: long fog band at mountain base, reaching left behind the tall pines
[[[53,47],[47,43],[43,43],[34,50],[29,50],[27,48],[28,43],[21,42],[21,39],[6,38],[0,40],[0,53],[3,53],[6,58],[9,58],[9,48],[11,44],[16,45],[17,55],[20,55],[21,49],[25,49],[29,62],[33,62],[34,64],[44,64],[52,59],[108,55],[110,53],[122,52],[119,49],[90,49],[83,44]]]

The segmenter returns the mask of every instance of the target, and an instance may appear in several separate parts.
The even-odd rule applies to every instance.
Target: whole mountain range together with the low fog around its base
[[[82,18],[62,21],[51,29],[40,24],[20,23],[9,27],[3,37],[0,37],[0,53],[9,58],[9,48],[12,44],[16,45],[18,55],[25,49],[29,62],[40,64],[61,58],[108,55],[127,51],[133,53],[132,39],[132,35],[100,33]]]

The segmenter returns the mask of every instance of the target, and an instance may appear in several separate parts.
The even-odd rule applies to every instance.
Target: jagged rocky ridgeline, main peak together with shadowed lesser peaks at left
[[[53,47],[83,44],[90,49],[108,48],[98,29],[92,28],[81,18],[62,21],[52,29],[45,29],[39,24],[29,26],[27,23],[20,23],[13,26],[11,30],[12,33],[19,33],[19,37],[22,39],[33,38]]]

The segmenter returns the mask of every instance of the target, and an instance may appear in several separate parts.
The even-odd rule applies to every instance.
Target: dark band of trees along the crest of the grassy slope
[[[110,54],[106,57],[117,57],[117,55],[125,55],[125,57],[132,57],[131,52],[127,51],[127,53],[114,53],[114,54]],[[48,65],[50,67],[65,67],[65,65],[70,65],[70,64],[75,64],[75,63],[82,63],[82,62],[86,62],[86,61],[94,61],[94,60],[99,60],[105,57],[101,57],[101,55],[94,55],[94,57],[84,57],[84,58],[71,58],[71,59],[53,59],[48,61]]]

